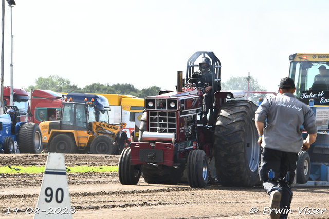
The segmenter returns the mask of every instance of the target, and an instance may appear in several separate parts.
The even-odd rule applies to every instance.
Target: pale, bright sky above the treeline
[[[277,91],[293,53],[329,53],[329,1],[15,0],[13,85],[59,75],[83,88],[131,83],[174,90],[196,51],[213,51],[222,80],[251,76]],[[10,85],[10,8],[5,75]]]

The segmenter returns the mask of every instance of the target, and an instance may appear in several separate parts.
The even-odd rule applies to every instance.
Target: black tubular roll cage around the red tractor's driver
[[[212,89],[211,89],[211,98],[212,102],[214,102],[214,93],[221,91],[221,62],[220,59],[216,57],[216,55],[213,52],[206,52],[206,51],[200,51],[194,53],[187,61],[187,67],[186,67],[186,81],[190,78],[192,78],[192,74],[194,73],[194,67],[198,67],[198,64],[194,64],[196,59],[198,59],[200,56],[206,57],[206,55],[209,56],[211,59],[211,67],[210,71],[212,72]],[[213,112],[213,104],[210,107],[210,116]]]

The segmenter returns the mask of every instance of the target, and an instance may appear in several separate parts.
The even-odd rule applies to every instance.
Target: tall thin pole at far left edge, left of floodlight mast
[[[5,0],[2,0],[1,17],[1,78],[0,78],[0,115],[4,113],[4,45],[5,45]]]

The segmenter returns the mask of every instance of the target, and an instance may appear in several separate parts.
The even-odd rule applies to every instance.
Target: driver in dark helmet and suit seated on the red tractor
[[[192,78],[197,79],[198,87],[204,87],[204,99],[206,102],[206,112],[204,116],[207,117],[208,111],[212,104],[211,88],[212,88],[212,72],[210,71],[211,62],[207,57],[203,57],[199,63],[199,70],[192,74]]]

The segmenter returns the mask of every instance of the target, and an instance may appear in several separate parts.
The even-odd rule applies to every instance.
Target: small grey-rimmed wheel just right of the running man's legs
[[[296,168],[296,183],[307,183],[310,174],[310,158],[306,151],[301,151],[298,154]]]

